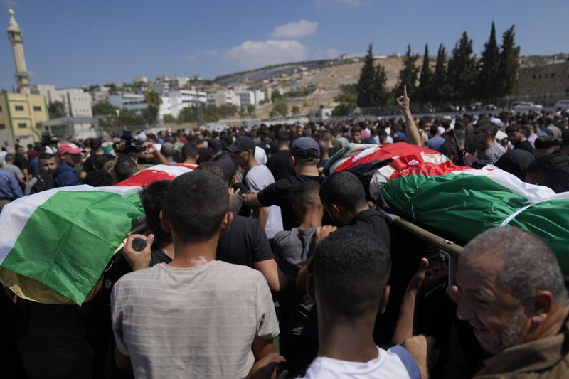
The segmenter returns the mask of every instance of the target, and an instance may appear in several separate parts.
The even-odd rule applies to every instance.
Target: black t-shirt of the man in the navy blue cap
[[[260,203],[264,207],[271,205],[280,206],[282,226],[285,230],[291,230],[300,225],[300,220],[292,209],[294,203],[294,189],[306,181],[315,181],[320,184],[319,176],[294,175],[265,187],[257,194]]]

